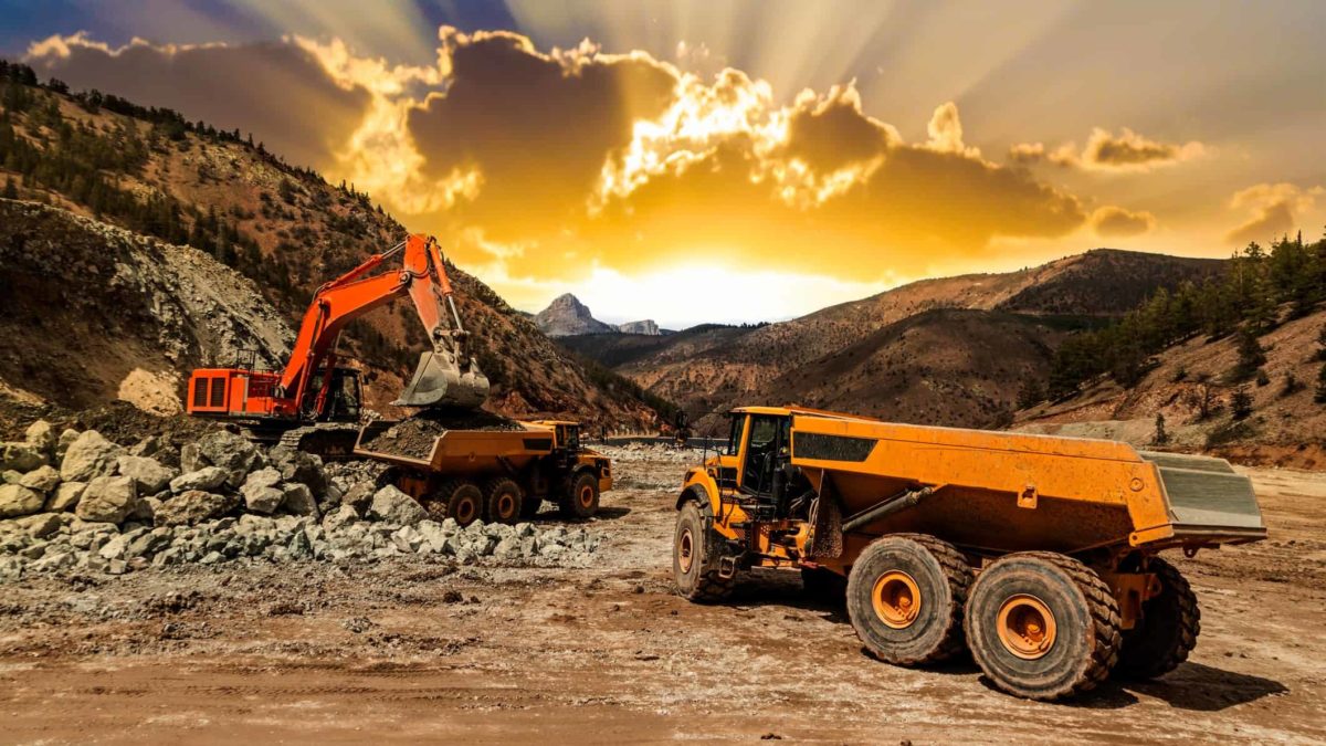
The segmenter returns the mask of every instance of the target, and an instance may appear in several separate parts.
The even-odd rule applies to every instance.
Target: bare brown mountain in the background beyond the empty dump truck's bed
[[[996,417],[992,408],[996,404],[1006,408],[1026,380],[1044,382],[1065,331],[1098,324],[1132,308],[1159,287],[1200,281],[1221,267],[1221,260],[1101,248],[1017,272],[920,280],[757,328],[699,327],[655,341],[597,336],[574,344],[581,354],[610,365],[646,390],[686,408],[692,418],[708,422],[713,422],[711,413],[736,404],[797,401],[806,406],[841,402],[853,411],[914,422],[988,425],[1008,419],[1008,411]],[[922,317],[923,324],[888,331],[918,315],[943,309],[980,313],[930,315]],[[983,313],[988,316],[977,321]],[[1017,323],[1016,316],[1028,319]],[[886,362],[890,374],[916,378],[930,361],[952,362],[963,354],[960,345],[984,341],[981,333],[997,335],[992,344],[1006,342],[1016,349],[1024,374],[1009,376],[1006,366],[992,366],[973,353],[972,360],[960,361],[971,365],[971,370],[955,369],[953,380],[972,385],[981,381],[980,392],[952,400],[947,409],[918,409],[902,401],[891,385],[863,384],[859,390],[851,389],[858,397],[837,397],[829,378],[814,378],[850,373],[871,381],[866,373],[883,376]],[[959,346],[947,352],[920,350],[912,340],[922,336],[936,345]],[[562,340],[562,344],[570,342]],[[908,362],[908,357],[900,356],[903,349],[920,354],[920,362]],[[1040,354],[1030,354],[1033,349]],[[855,360],[870,360],[873,368],[843,370],[842,356],[849,353]],[[943,369],[935,369],[927,380],[934,382],[943,376]]]

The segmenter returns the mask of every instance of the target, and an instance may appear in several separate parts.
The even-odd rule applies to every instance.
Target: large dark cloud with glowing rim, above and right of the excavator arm
[[[446,41],[446,40],[444,40]],[[540,54],[511,33],[457,36],[446,92],[410,113],[428,178],[477,167],[477,199],[455,216],[495,239],[557,230],[582,212],[609,153],[658,117],[676,77],[644,56]]]

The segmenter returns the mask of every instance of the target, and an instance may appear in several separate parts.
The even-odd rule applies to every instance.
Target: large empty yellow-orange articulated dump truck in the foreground
[[[1217,458],[801,408],[731,418],[676,503],[683,596],[721,600],[753,567],[800,569],[808,591],[846,593],[879,660],[971,649],[994,685],[1033,700],[1172,670],[1199,611],[1159,552],[1266,536],[1250,482]]]

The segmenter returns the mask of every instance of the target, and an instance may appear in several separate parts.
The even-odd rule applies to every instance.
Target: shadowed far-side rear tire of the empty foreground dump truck
[[[1142,604],[1142,619],[1132,629],[1123,631],[1119,665],[1120,678],[1155,678],[1170,673],[1197,646],[1201,632],[1201,609],[1192,585],[1179,569],[1160,558],[1151,559],[1151,569],[1160,580],[1160,593]]]

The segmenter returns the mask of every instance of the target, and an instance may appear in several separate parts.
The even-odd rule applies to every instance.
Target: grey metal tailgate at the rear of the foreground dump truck
[[[1176,538],[1238,544],[1266,538],[1252,479],[1223,458],[1139,451],[1160,471]]]

